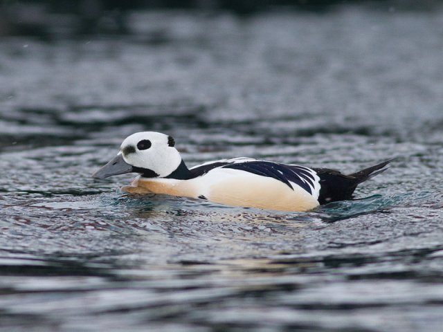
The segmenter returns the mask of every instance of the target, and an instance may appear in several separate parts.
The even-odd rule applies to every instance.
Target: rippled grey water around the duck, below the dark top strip
[[[443,10],[133,15],[0,40],[1,331],[438,331]],[[355,172],[309,213],[128,197],[90,177],[142,130],[188,165]]]

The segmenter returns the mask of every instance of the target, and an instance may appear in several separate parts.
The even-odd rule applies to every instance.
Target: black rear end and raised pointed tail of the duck
[[[345,199],[352,199],[352,194],[355,188],[362,182],[369,180],[382,172],[385,172],[392,160],[383,161],[372,167],[365,168],[360,172],[345,175],[334,169],[314,168],[320,178],[320,195],[318,202],[325,204],[334,201],[343,201]]]

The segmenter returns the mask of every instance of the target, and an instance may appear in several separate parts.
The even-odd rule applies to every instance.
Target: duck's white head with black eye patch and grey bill
[[[143,131],[123,140],[117,156],[92,176],[107,178],[136,172],[148,178],[165,178],[183,167],[187,170],[171,136]]]

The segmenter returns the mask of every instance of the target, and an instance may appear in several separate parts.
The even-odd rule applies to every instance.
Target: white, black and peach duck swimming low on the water
[[[92,176],[137,173],[130,185],[121,188],[128,194],[168,194],[235,207],[306,212],[352,199],[357,185],[386,171],[391,161],[347,175],[246,157],[188,168],[172,136],[143,131],[125,138],[118,154]]]

